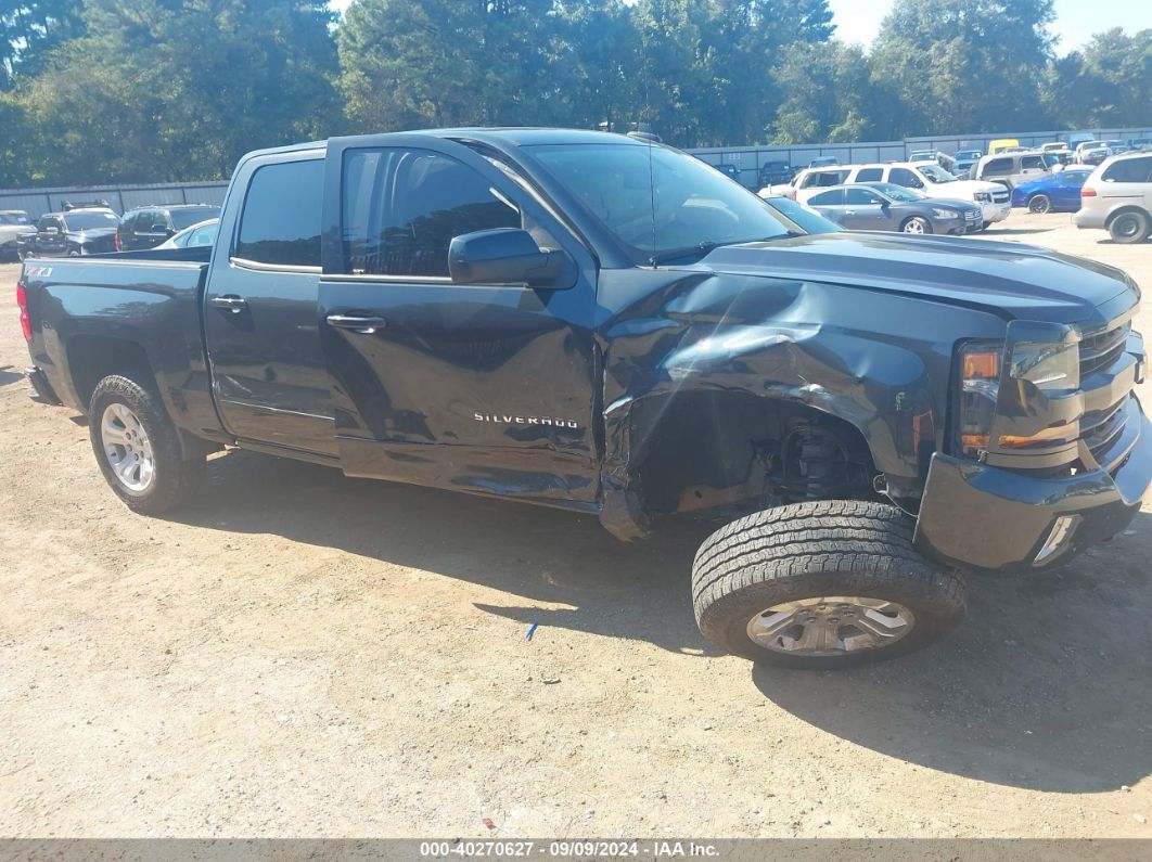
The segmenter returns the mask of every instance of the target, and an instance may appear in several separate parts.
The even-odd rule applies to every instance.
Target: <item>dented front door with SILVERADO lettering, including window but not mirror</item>
[[[320,342],[344,472],[594,501],[596,267],[535,193],[456,142],[333,139],[324,223]],[[453,283],[453,237],[497,228],[563,247],[576,283]]]

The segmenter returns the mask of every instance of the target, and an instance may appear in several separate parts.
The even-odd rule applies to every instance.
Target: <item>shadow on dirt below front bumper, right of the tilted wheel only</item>
[[[1152,514],[1063,570],[973,579],[964,625],[872,668],[756,666],[766,697],[856,745],[930,769],[1068,793],[1152,772]]]

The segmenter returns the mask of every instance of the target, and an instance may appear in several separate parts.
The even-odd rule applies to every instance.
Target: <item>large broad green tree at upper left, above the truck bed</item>
[[[321,0],[88,0],[83,23],[20,91],[48,182],[225,177],[333,130]]]

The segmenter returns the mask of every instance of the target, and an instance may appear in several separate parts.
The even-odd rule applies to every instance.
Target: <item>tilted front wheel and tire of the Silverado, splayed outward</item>
[[[700,632],[734,655],[835,669],[919,649],[964,617],[964,580],[912,547],[895,506],[821,501],[757,512],[700,546]]]

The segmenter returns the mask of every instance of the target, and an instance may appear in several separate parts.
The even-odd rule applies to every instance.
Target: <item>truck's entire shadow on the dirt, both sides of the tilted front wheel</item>
[[[525,628],[717,655],[689,598],[706,526],[623,544],[591,516],[243,451],[214,458],[211,475],[215,487],[180,521],[492,587],[529,607],[475,607]],[[1152,516],[1129,533],[1059,574],[973,580],[965,624],[918,654],[841,672],[758,665],[751,679],[814,727],[929,769],[1049,792],[1135,785],[1152,772]]]

